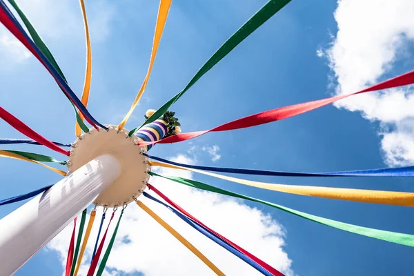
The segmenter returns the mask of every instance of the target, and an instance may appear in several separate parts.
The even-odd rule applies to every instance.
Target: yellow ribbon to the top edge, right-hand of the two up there
[[[157,50],[159,46],[159,41],[161,40],[161,35],[164,30],[164,26],[166,25],[166,20],[168,16],[168,10],[170,10],[172,0],[161,0],[159,2],[159,9],[158,9],[158,16],[157,16],[157,23],[155,25],[155,34],[154,34],[154,41],[152,42],[152,50],[151,50],[151,57],[150,57],[150,65],[148,66],[148,71],[146,74],[146,77],[144,79],[144,82],[141,85],[141,88],[139,88],[139,92],[137,97],[135,98],[134,102],[132,103],[132,106],[128,113],[126,113],[125,118],[119,123],[118,129],[121,130],[124,128],[126,121],[128,121],[130,115],[135,109],[135,106],[137,106],[137,103],[139,99],[141,99],[142,94],[144,94],[146,85],[148,83],[148,79],[150,79],[152,65],[155,60],[155,55],[157,55]]]

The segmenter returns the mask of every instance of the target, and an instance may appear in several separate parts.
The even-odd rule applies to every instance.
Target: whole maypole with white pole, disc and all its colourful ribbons
[[[21,132],[23,135],[33,139],[0,139],[0,144],[41,144],[68,157],[68,161],[58,161],[53,157],[33,152],[6,149],[0,150],[1,157],[30,161],[65,176],[64,179],[53,186],[47,186],[24,195],[0,200],[1,206],[22,201],[37,195],[37,197],[31,201],[28,201],[28,203],[24,204],[10,215],[0,220],[0,276],[12,275],[15,273],[28,261],[28,259],[30,259],[30,257],[41,250],[43,246],[48,244],[48,242],[50,242],[50,240],[55,237],[57,233],[67,226],[69,222],[83,210],[81,215],[81,225],[79,226],[77,233],[76,246],[76,224],[72,231],[72,239],[70,240],[65,271],[66,276],[77,276],[79,267],[82,263],[83,254],[85,253],[86,245],[88,244],[90,230],[95,219],[95,210],[93,210],[88,226],[86,227],[85,235],[83,235],[83,226],[85,226],[86,220],[86,208],[91,203],[95,204],[95,206],[103,207],[103,215],[101,218],[101,224],[99,225],[95,249],[92,254],[87,275],[95,275],[96,270],[96,275],[101,276],[110,256],[112,246],[115,242],[115,237],[117,235],[117,230],[121,217],[124,213],[124,209],[132,201],[135,201],[145,213],[155,219],[158,224],[173,235],[179,242],[181,242],[181,244],[191,250],[195,256],[211,268],[215,274],[224,275],[224,273],[221,272],[215,264],[210,262],[210,260],[200,252],[200,250],[190,244],[190,242],[180,235],[177,230],[173,229],[166,223],[166,221],[159,217],[159,215],[150,210],[148,206],[141,202],[139,199],[141,194],[144,194],[147,199],[165,206],[171,210],[172,213],[177,215],[177,217],[186,222],[186,224],[195,228],[199,233],[205,235],[216,244],[219,244],[230,253],[233,253],[233,255],[239,257],[239,259],[242,259],[246,262],[246,264],[249,264],[263,275],[283,275],[283,273],[264,262],[264,260],[259,259],[259,257],[253,255],[253,253],[249,253],[241,246],[231,242],[230,239],[227,239],[212,228],[206,226],[206,224],[193,217],[193,215],[190,215],[190,213],[172,201],[167,195],[164,195],[164,193],[155,188],[155,186],[149,184],[148,181],[150,181],[150,177],[163,177],[164,179],[169,179],[171,181],[175,181],[177,184],[183,184],[191,188],[206,190],[211,193],[217,193],[238,199],[254,201],[277,208],[278,210],[290,213],[291,215],[302,217],[308,221],[344,230],[348,233],[364,235],[366,237],[381,239],[386,242],[393,242],[404,246],[414,247],[414,235],[357,226],[342,221],[335,221],[333,219],[311,215],[299,210],[274,204],[270,201],[264,201],[248,195],[242,195],[217,188],[215,186],[210,186],[193,179],[184,179],[182,177],[172,176],[168,177],[158,175],[156,172],[151,171],[152,166],[173,168],[177,170],[189,170],[196,172],[197,174],[207,175],[208,177],[215,177],[217,179],[233,181],[237,184],[277,191],[280,193],[358,201],[371,204],[414,206],[414,193],[325,186],[273,184],[213,173],[224,172],[242,175],[284,177],[414,177],[414,166],[337,172],[282,172],[278,170],[195,166],[193,164],[180,164],[172,160],[148,155],[148,150],[150,150],[150,148],[152,148],[155,144],[173,144],[199,137],[208,132],[237,130],[268,124],[273,121],[287,119],[317,108],[322,108],[323,106],[353,95],[412,85],[414,83],[414,70],[392,79],[387,79],[382,83],[377,83],[374,86],[365,88],[364,90],[353,92],[352,94],[337,95],[326,99],[297,103],[291,106],[267,110],[255,115],[249,115],[240,119],[228,121],[226,124],[221,124],[220,126],[216,126],[215,128],[211,128],[209,130],[180,133],[181,125],[175,117],[175,112],[168,110],[170,106],[181,98],[201,77],[206,75],[206,73],[219,61],[221,61],[221,59],[224,59],[224,57],[236,48],[239,43],[242,43],[244,39],[255,32],[257,28],[262,26],[262,24],[270,19],[270,17],[273,17],[276,12],[284,8],[284,6],[290,2],[290,0],[269,0],[258,12],[253,15],[253,17],[248,19],[248,21],[241,28],[239,28],[239,30],[229,37],[229,39],[210,57],[210,59],[208,59],[208,61],[201,66],[199,71],[192,79],[190,79],[188,84],[186,84],[186,86],[177,93],[177,95],[164,103],[164,105],[158,110],[148,110],[145,115],[146,121],[144,121],[141,126],[133,128],[132,130],[126,130],[124,127],[126,126],[128,118],[132,115],[139,99],[146,90],[172,0],[160,0],[159,2],[155,35],[152,43],[150,63],[148,65],[146,77],[141,84],[141,88],[139,89],[137,97],[135,97],[130,110],[128,110],[124,119],[117,126],[100,124],[99,121],[92,117],[86,108],[90,94],[92,77],[92,52],[90,49],[90,35],[83,0],[79,1],[81,3],[83,23],[85,25],[86,32],[87,58],[85,82],[81,99],[77,97],[75,92],[68,85],[68,81],[57,65],[57,61],[52,56],[52,53],[47,48],[46,44],[42,41],[37,31],[31,25],[26,15],[23,14],[23,11],[20,10],[14,0],[8,1],[26,26],[28,33],[26,33],[23,26],[21,26],[16,17],[14,17],[14,14],[10,11],[10,8],[6,5],[6,3],[4,3],[3,0],[0,0],[0,23],[3,23],[3,25],[14,35],[14,37],[21,41],[21,43],[30,52],[32,52],[34,57],[36,57],[43,64],[46,70],[48,70],[50,75],[52,75],[55,79],[64,95],[66,95],[66,97],[70,100],[77,117],[77,126],[75,130],[77,140],[73,144],[60,144],[52,142],[24,124],[23,121],[20,121],[17,117],[14,117],[14,115],[10,114],[7,110],[0,107],[0,119],[5,120],[8,124],[10,124],[10,126]],[[83,123],[83,119],[85,119],[90,126],[92,126],[92,128],[88,128],[88,126]],[[83,134],[81,130],[83,130]],[[251,141],[248,140],[249,138],[246,138],[247,142],[250,143]],[[70,146],[70,150],[62,148],[66,146]],[[150,161],[150,159],[152,159],[152,161]],[[48,166],[43,164],[43,162],[66,165],[68,167],[68,174],[66,171]],[[144,192],[147,187],[148,193]],[[150,195],[149,192],[155,193],[164,201]],[[110,228],[111,221],[113,220],[115,212],[119,207],[122,208],[121,214],[118,217],[115,229],[112,231],[112,228]],[[106,210],[108,210],[108,208],[113,208],[112,215],[110,215],[110,218],[105,221]],[[105,227],[103,227],[103,222],[105,222]],[[112,226],[113,224],[114,223],[112,223]],[[110,237],[110,242],[103,253],[103,245],[105,244],[105,239],[109,229],[112,231],[112,237]],[[100,237],[101,230],[103,234]],[[102,257],[101,253],[103,253]],[[172,271],[172,273],[174,273],[174,271]]]

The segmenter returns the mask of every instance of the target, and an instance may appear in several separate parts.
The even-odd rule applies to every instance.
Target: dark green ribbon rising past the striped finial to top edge
[[[194,85],[201,77],[203,77],[206,72],[208,72],[213,66],[215,66],[221,59],[226,57],[226,55],[231,52],[234,48],[236,48],[239,43],[244,41],[246,37],[248,37],[252,32],[254,32],[257,28],[262,26],[264,22],[266,22],[270,17],[272,17],[276,12],[281,10],[284,6],[286,6],[287,3],[289,3],[290,0],[270,0],[266,5],[264,5],[258,12],[256,12],[253,17],[248,19],[244,25],[237,30],[229,39],[227,39],[226,42],[217,50],[213,56],[208,59],[206,63],[204,63],[204,66],[202,66],[199,71],[195,74],[193,79],[190,80],[190,82],[187,84],[187,86],[181,90],[177,95],[172,97],[169,101],[164,103],[164,106],[161,106],[154,114],[152,114],[151,117],[146,119],[144,121],[144,124],[139,126],[138,128],[134,128],[131,130],[128,135],[131,137],[134,135],[139,128],[142,128],[142,126],[146,124],[150,124],[162,115],[172,106],[175,101],[177,101],[184,93],[190,89],[191,86]]]

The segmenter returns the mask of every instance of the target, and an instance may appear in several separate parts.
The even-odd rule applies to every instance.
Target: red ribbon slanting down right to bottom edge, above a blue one
[[[277,269],[273,268],[272,266],[270,266],[266,262],[262,261],[261,259],[259,259],[255,255],[253,255],[253,254],[249,253],[248,251],[244,250],[243,248],[241,248],[237,244],[231,242],[229,239],[226,239],[226,237],[223,237],[219,233],[215,232],[215,230],[213,230],[211,228],[208,228],[208,226],[206,226],[201,221],[199,221],[198,219],[196,219],[195,217],[193,217],[192,215],[190,215],[189,213],[187,213],[186,210],[184,210],[183,208],[181,208],[180,206],[178,206],[177,204],[175,204],[171,199],[169,199],[166,195],[164,195],[163,193],[161,193],[157,188],[155,188],[151,184],[147,184],[147,186],[148,186],[148,188],[150,190],[153,190],[157,195],[159,195],[160,197],[162,197],[162,199],[164,199],[165,201],[167,201],[168,204],[170,204],[171,206],[173,206],[174,208],[176,208],[177,210],[179,210],[181,213],[183,213],[184,215],[186,215],[190,219],[193,219],[194,221],[197,221],[197,223],[199,223],[204,228],[210,230],[212,233],[214,233],[215,235],[219,236],[221,239],[224,239],[224,241],[226,241],[228,244],[230,244],[231,246],[233,246],[234,248],[236,248],[237,250],[239,250],[244,255],[248,256],[250,259],[253,259],[253,261],[255,261],[257,264],[259,264],[260,266],[262,266],[264,269],[268,270],[268,272],[272,273],[273,275],[284,276],[284,274],[282,274],[281,272],[279,272]]]

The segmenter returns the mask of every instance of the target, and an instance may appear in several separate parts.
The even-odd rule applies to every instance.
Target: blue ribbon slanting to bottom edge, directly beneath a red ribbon
[[[236,248],[234,248],[233,246],[231,246],[230,244],[225,242],[223,239],[221,239],[220,237],[218,237],[214,233],[210,232],[210,230],[204,228],[203,226],[198,224],[196,221],[193,221],[193,219],[190,219],[190,218],[186,217],[185,215],[181,214],[175,208],[172,208],[168,204],[165,204],[164,202],[160,201],[159,199],[156,199],[155,197],[152,197],[152,195],[148,195],[148,193],[146,193],[146,192],[144,192],[143,195],[145,197],[148,197],[149,199],[152,199],[153,201],[156,201],[159,204],[162,204],[162,205],[166,206],[166,208],[168,208],[170,211],[172,211],[172,213],[175,213],[175,215],[177,215],[180,219],[184,220],[191,227],[195,228],[195,230],[199,231],[199,233],[205,235],[206,237],[211,239],[216,244],[219,244],[219,246],[225,248],[230,253],[233,253],[234,255],[236,255],[237,257],[242,259],[244,262],[246,262],[250,266],[253,266],[253,268],[255,268],[256,270],[259,270],[259,272],[262,273],[263,275],[273,276],[272,273],[268,272],[268,270],[264,269],[262,266],[257,264],[257,262],[253,261],[253,259],[250,259],[249,257],[247,257],[246,255],[241,253],[239,250],[237,250]]]

